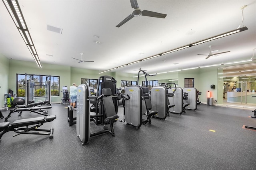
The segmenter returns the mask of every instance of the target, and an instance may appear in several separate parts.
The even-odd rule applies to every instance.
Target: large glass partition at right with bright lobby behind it
[[[256,108],[256,63],[218,68],[218,104]]]

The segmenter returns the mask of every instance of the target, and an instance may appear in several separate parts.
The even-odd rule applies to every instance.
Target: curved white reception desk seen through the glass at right
[[[242,94],[241,94],[242,93]],[[228,91],[228,99],[227,102],[229,103],[241,103],[241,97],[242,102],[246,102],[246,95],[247,95],[247,103],[256,104],[256,93],[253,92],[229,92]]]

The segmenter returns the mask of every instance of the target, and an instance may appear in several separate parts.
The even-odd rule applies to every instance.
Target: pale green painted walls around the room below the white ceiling
[[[9,88],[16,93],[16,74],[60,76],[60,91],[62,86],[70,87],[72,83],[80,85],[81,78],[98,79],[102,75],[110,75],[116,79],[116,87],[121,86],[121,80],[137,81],[138,79],[138,77],[134,77],[137,75],[129,73],[106,72],[98,74],[98,71],[95,70],[46,63],[42,63],[43,68],[39,68],[34,62],[9,60],[3,55],[0,55],[0,59],[0,85],[2,86],[0,88],[0,107],[4,105],[4,93],[7,93]],[[220,83],[218,84],[218,66],[163,73],[147,77],[148,80],[159,80],[160,82],[168,81],[168,79],[178,79],[179,87],[184,87],[184,78],[194,78],[195,88],[202,92],[202,95],[200,95],[202,103],[207,103],[207,91],[212,92],[214,100],[222,97],[222,91],[218,93],[218,89],[222,89],[222,87],[218,87],[220,86]],[[142,84],[142,81],[145,81],[144,77],[140,77],[139,84]],[[210,89],[212,84],[215,85],[215,89]],[[59,97],[52,97],[52,103],[60,103],[61,99],[62,93],[60,93]]]

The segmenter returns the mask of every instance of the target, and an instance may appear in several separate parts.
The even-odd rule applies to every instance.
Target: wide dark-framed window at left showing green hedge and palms
[[[45,94],[45,81],[51,81],[51,95],[59,96],[60,95],[60,77],[59,76],[48,76],[48,75],[25,75],[25,74],[16,74],[17,76],[17,97],[25,97],[25,77],[27,80],[34,81],[33,96],[46,96]]]

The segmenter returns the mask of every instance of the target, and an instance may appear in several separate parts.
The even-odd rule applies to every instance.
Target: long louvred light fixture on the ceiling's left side
[[[36,64],[38,65],[38,67],[42,68],[42,64],[36,52],[36,48],[33,44],[30,33],[28,31],[28,27],[26,25],[23,14],[21,12],[18,0],[2,0],[2,1],[4,2],[4,5],[7,8],[10,16],[12,17],[14,24],[18,28],[20,35],[22,36],[24,42],[26,43],[31,55],[36,61]]]

